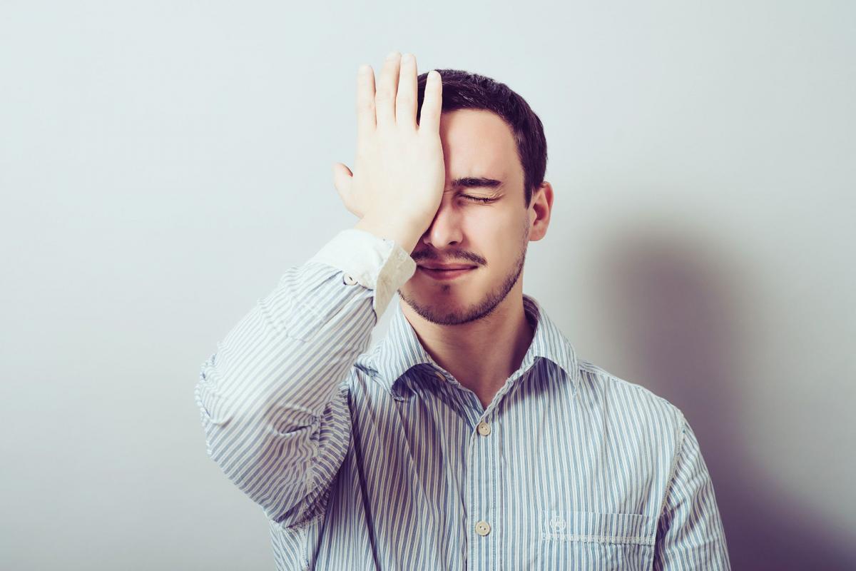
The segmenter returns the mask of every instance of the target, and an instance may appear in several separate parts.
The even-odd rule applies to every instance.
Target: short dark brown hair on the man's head
[[[523,191],[528,208],[532,193],[544,182],[544,173],[547,170],[547,140],[544,138],[544,125],[541,120],[526,103],[526,99],[521,98],[504,83],[460,69],[437,69],[437,73],[443,80],[443,111],[491,111],[500,116],[511,129],[517,144],[517,157],[523,167]],[[427,78],[428,72],[417,78],[417,122],[422,112]]]

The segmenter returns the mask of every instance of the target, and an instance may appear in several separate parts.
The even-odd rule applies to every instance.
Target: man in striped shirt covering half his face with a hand
[[[730,568],[681,411],[522,292],[553,204],[538,116],[441,71],[393,52],[376,90],[360,68],[354,172],[334,165],[360,221],[203,364],[208,454],[265,509],[279,569]]]

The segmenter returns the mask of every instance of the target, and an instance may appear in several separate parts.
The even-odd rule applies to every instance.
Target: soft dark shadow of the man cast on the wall
[[[633,374],[626,378],[681,408],[693,427],[732,567],[856,569],[841,530],[777,493],[782,476],[744,444],[758,411],[740,400],[741,386],[753,382],[741,376],[752,339],[740,308],[763,293],[740,275],[740,254],[724,259],[689,235],[651,231],[615,236],[599,254],[597,302],[616,341],[630,349]]]

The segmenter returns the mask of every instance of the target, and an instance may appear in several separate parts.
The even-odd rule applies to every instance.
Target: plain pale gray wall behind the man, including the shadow
[[[330,164],[392,49],[541,117],[525,290],[684,410],[734,568],[856,565],[854,4],[310,4],[0,7],[0,567],[273,568],[193,386],[353,226]]]

